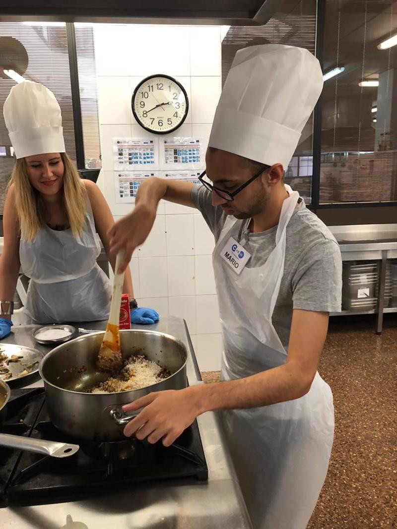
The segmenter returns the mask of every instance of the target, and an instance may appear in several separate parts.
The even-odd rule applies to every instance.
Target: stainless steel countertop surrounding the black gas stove
[[[79,323],[86,329],[104,330],[106,322]],[[17,343],[44,352],[50,348],[34,342],[32,332],[37,325],[13,327],[14,334],[2,343]],[[134,329],[142,329],[133,325]],[[144,329],[172,334],[184,342],[190,352],[187,363],[189,384],[203,384],[200,380],[194,351],[182,318],[161,318]],[[21,381],[22,382],[22,381]],[[26,379],[23,387],[40,386],[39,377]],[[13,385],[15,387],[15,385]],[[197,485],[178,485],[174,480],[157,486],[142,484],[129,491],[109,489],[109,495],[70,503],[0,509],[2,529],[60,529],[71,516],[73,522],[88,529],[213,529],[222,525],[227,529],[248,529],[251,526],[240,487],[225,449],[216,413],[207,412],[197,418],[204,447],[209,477]],[[67,526],[73,529],[73,524]],[[84,525],[79,529],[85,529]]]

